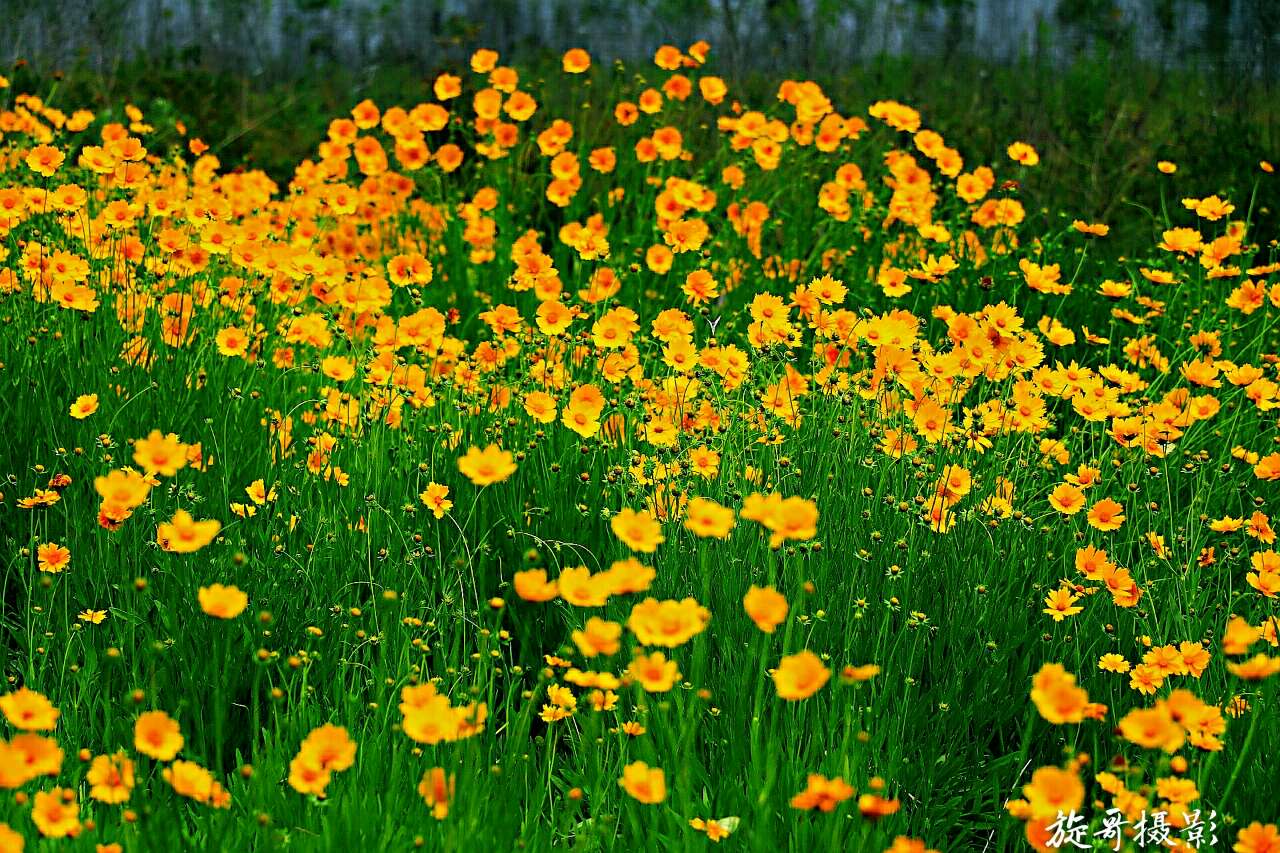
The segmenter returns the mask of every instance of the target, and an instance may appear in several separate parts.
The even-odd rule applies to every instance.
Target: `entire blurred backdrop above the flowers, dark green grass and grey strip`
[[[1280,0],[0,0],[0,20],[17,91],[133,101],[276,178],[333,115],[428,100],[477,46],[526,87],[585,47],[603,92],[652,74],[658,45],[699,38],[746,104],[804,77],[846,114],[919,108],[966,161],[1027,140],[1055,206],[1080,215],[1155,205],[1157,159],[1202,193],[1280,159]],[[581,106],[536,91],[550,114]]]

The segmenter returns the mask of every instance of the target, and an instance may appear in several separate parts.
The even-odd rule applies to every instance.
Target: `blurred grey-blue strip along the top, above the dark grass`
[[[727,69],[813,73],[879,55],[1066,64],[1117,51],[1158,65],[1275,76],[1275,0],[4,0],[6,59],[99,72],[138,54],[300,76],[317,63],[422,68],[484,44],[640,60],[710,41]],[[1101,54],[1100,54],[1101,50]]]

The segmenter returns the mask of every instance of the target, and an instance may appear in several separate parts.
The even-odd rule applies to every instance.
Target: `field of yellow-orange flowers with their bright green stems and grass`
[[[0,77],[0,852],[1280,850],[1271,164],[554,70]]]

